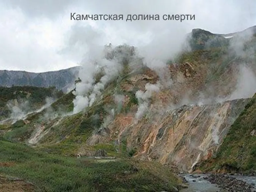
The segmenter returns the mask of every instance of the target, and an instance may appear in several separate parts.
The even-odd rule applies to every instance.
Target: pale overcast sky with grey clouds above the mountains
[[[76,66],[92,44],[142,46],[172,36],[171,44],[193,28],[231,33],[256,25],[256,0],[0,0],[0,12],[0,70],[31,72]],[[71,12],[123,14],[124,20],[71,21]],[[126,21],[128,14],[160,20]],[[195,14],[195,20],[164,21],[164,14]]]

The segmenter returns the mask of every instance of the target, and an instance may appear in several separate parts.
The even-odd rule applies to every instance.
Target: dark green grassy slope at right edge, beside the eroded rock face
[[[256,170],[256,95],[231,126],[216,156],[201,164],[203,171],[249,173]]]

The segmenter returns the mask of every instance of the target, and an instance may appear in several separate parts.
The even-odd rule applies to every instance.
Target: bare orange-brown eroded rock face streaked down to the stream
[[[202,159],[210,158],[249,99],[213,105],[182,106],[165,112],[152,112],[138,122],[117,116],[109,125],[110,137],[127,147],[137,148],[137,156],[174,163],[191,172]]]

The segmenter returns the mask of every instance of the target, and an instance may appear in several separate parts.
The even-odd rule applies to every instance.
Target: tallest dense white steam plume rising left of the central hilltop
[[[76,96],[73,101],[73,113],[78,113],[86,107],[92,106],[101,95],[105,85],[114,80],[124,65],[129,65],[129,62],[134,59],[132,57],[134,48],[127,45],[112,48],[110,44],[97,51],[102,53],[94,53],[94,56],[97,57],[88,57],[90,60],[85,59],[82,62],[83,70],[79,72],[82,81],[77,83],[76,90],[73,92]],[[101,75],[99,82],[95,82],[96,74]]]

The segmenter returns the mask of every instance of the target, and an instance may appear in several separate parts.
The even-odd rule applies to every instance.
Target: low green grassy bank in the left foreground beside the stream
[[[119,192],[174,191],[181,181],[159,164],[136,161],[104,162],[60,157],[23,144],[0,141],[0,174],[32,182],[36,191]]]

